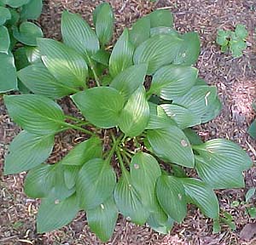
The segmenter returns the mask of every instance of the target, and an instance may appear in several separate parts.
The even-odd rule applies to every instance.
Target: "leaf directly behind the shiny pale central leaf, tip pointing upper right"
[[[110,87],[119,90],[125,100],[128,100],[131,94],[143,85],[146,72],[147,65],[145,64],[130,66],[113,78]]]

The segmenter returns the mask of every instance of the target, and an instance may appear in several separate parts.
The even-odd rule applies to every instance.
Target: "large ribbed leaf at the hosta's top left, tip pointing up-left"
[[[87,62],[90,60],[90,56],[96,54],[100,49],[95,31],[79,14],[72,14],[67,11],[62,13],[61,34],[63,42],[82,54]]]

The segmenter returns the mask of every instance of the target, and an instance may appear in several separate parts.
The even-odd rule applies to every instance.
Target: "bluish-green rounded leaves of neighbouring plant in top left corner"
[[[28,66],[37,57],[35,46],[37,38],[43,37],[43,32],[27,20],[37,20],[42,6],[42,0],[0,0],[0,93],[18,87],[27,91],[22,84],[18,84],[16,71]]]

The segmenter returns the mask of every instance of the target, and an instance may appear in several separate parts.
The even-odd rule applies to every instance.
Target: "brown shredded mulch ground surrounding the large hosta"
[[[60,39],[60,18],[63,9],[83,14],[91,21],[91,12],[100,1],[83,0],[45,0],[44,13],[39,24],[46,37]],[[178,31],[198,31],[201,36],[201,56],[197,63],[200,76],[208,84],[218,87],[223,102],[221,114],[212,122],[197,127],[204,140],[227,138],[239,143],[248,154],[256,159],[256,143],[247,135],[252,122],[251,104],[256,98],[256,2],[255,0],[170,0],[154,3],[140,0],[113,0],[116,17],[116,37],[124,26],[131,26],[137,18],[153,9],[170,9],[175,17]],[[90,22],[91,23],[91,22]],[[237,23],[247,26],[249,37],[247,49],[239,59],[230,54],[221,54],[215,43],[218,28],[232,29]],[[68,105],[62,103],[68,110]],[[64,108],[64,109],[65,109]],[[35,230],[35,214],[38,200],[32,200],[23,193],[25,174],[3,176],[3,156],[9,142],[20,131],[11,122],[3,100],[0,99],[0,244],[102,244],[86,225],[84,214],[59,231],[38,235]],[[56,138],[52,158],[61,157],[80,136],[74,131]],[[255,149],[255,150],[254,150]],[[61,153],[60,153],[61,152]],[[240,239],[242,227],[255,220],[246,214],[246,205],[234,207],[232,202],[243,201],[247,189],[256,185],[256,165],[245,173],[246,189],[218,191],[222,212],[233,215],[236,230],[222,226],[219,234],[212,235],[212,221],[200,214],[197,208],[190,207],[183,224],[175,225],[171,234],[162,236],[147,226],[137,226],[120,217],[112,240],[106,244],[256,244]],[[255,200],[254,200],[255,201]]]

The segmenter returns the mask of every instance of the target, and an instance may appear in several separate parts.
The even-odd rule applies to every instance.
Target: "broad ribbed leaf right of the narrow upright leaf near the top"
[[[148,63],[147,74],[151,75],[161,66],[172,63],[182,43],[182,39],[178,37],[166,35],[150,37],[136,48],[133,61],[135,64]]]

